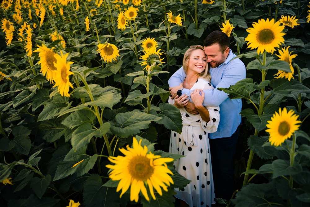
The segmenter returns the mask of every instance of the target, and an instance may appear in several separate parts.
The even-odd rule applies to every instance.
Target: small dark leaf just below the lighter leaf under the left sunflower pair
[[[40,124],[40,129],[44,133],[42,138],[49,143],[60,139],[65,133],[65,128],[66,127],[61,124],[61,120],[59,119],[46,120]]]

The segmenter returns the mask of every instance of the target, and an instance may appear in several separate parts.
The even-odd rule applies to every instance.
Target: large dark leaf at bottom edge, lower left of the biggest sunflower
[[[126,195],[123,195],[126,197]],[[119,198],[115,187],[105,187],[98,174],[92,174],[84,183],[83,200],[86,206],[126,206],[125,199]]]

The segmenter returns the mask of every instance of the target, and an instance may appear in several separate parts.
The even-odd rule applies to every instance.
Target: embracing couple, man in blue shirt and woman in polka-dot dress
[[[217,88],[246,78],[244,64],[229,49],[228,36],[210,33],[204,46],[191,46],[183,67],[169,79],[169,103],[180,109],[182,134],[170,135],[170,153],[186,155],[175,169],[191,182],[175,189],[181,205],[211,206],[229,200],[235,190],[233,156],[241,124],[241,99],[229,99]],[[232,60],[232,61],[231,61]],[[185,203],[184,203],[185,202]]]

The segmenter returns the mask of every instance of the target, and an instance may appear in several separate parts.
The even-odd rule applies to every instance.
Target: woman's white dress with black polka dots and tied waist
[[[193,89],[214,89],[205,79],[198,79]],[[170,104],[174,100],[169,98]],[[175,197],[184,200],[189,206],[210,206],[214,204],[214,184],[211,166],[208,133],[213,133],[219,125],[219,107],[206,107],[210,121],[200,115],[188,113],[181,108],[182,133],[171,131],[169,152],[186,155],[175,161],[175,169],[191,182],[183,189],[175,188]]]

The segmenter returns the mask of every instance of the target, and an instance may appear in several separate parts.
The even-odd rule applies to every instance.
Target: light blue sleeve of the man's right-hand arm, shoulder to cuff
[[[231,62],[229,68],[223,72],[222,79],[217,84],[216,88],[203,90],[205,99],[202,103],[203,106],[219,106],[223,101],[228,98],[228,94],[224,91],[217,90],[217,88],[229,88],[231,85],[236,84],[238,81],[245,79],[246,69],[244,64]],[[182,93],[190,94],[191,90],[184,88]],[[192,101],[190,97],[190,101]]]

